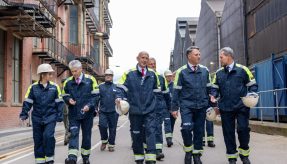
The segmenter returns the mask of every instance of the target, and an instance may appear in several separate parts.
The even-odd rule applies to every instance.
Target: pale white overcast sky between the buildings
[[[118,76],[135,67],[136,56],[147,51],[159,72],[169,67],[177,17],[199,17],[201,0],[111,0],[113,19],[110,68]],[[115,67],[115,66],[120,67]]]

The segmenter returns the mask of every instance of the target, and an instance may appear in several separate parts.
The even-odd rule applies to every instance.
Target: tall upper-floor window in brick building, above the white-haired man
[[[70,6],[70,43],[78,44],[78,6]]]

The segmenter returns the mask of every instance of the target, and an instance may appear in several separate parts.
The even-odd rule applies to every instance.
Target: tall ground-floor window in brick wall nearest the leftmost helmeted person
[[[12,95],[13,103],[20,103],[20,54],[21,41],[14,38],[13,59],[12,59]]]

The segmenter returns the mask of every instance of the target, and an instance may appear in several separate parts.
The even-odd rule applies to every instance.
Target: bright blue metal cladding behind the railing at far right
[[[287,86],[287,55],[279,58],[269,58],[263,62],[257,63],[255,67],[255,78],[258,83],[258,91],[274,90],[286,88]],[[287,106],[287,92],[277,92],[278,105]],[[260,93],[258,107],[275,107],[276,96],[273,92]],[[265,109],[263,111],[263,120],[276,121],[276,110]],[[287,121],[287,108],[279,109],[280,121]],[[260,110],[252,109],[251,118],[260,119]]]

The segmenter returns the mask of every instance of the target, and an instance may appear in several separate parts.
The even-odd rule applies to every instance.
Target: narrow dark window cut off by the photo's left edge
[[[5,54],[5,31],[0,30],[0,94],[3,101],[4,95],[4,54]]]

